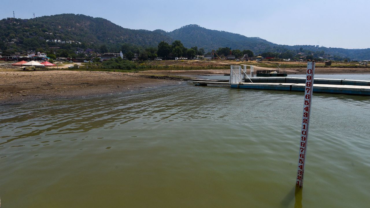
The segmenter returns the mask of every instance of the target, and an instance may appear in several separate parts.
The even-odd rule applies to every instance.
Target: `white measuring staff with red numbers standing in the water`
[[[301,188],[303,187],[303,176],[305,173],[307,138],[310,126],[314,74],[315,74],[315,61],[307,61],[305,98],[303,102],[302,129],[299,141],[298,168],[296,178],[296,185]]]

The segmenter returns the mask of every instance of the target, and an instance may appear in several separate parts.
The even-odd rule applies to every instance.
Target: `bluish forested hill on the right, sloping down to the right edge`
[[[252,50],[255,54],[266,52],[289,53],[291,51],[303,50],[324,51],[336,57],[346,57],[357,60],[369,60],[370,48],[366,49],[345,49],[345,48],[327,48],[311,45],[287,46],[271,43],[259,37],[246,37],[240,34],[229,33],[225,31],[209,30],[196,24],[187,25],[171,31],[168,35],[174,40],[180,40],[185,47],[198,46],[206,51],[218,47],[229,47],[239,50]]]

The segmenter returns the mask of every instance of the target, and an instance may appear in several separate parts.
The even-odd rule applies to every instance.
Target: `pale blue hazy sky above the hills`
[[[124,28],[172,31],[188,24],[284,45],[370,48],[368,0],[18,0],[1,2],[0,19],[73,13]]]

